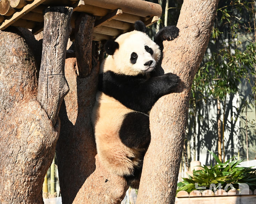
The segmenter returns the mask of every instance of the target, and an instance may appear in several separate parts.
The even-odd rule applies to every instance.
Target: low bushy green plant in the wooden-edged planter
[[[183,178],[184,181],[178,183],[177,193],[179,191],[190,193],[198,190],[195,188],[195,183],[198,183],[198,187],[205,186],[207,189],[210,188],[212,183],[215,184],[216,188],[220,183],[222,189],[225,188],[226,184],[232,184],[237,189],[238,183],[246,183],[250,189],[256,189],[256,169],[239,166],[242,160],[235,160],[234,157],[225,163],[221,163],[217,155],[211,151],[210,154],[213,155],[216,165],[210,167],[204,165],[202,170],[194,170],[193,176]]]

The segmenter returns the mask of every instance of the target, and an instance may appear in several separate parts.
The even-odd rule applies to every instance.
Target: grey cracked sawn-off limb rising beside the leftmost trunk
[[[58,112],[69,88],[64,75],[64,65],[72,8],[49,7],[44,14],[42,63],[38,80],[37,100],[56,123]]]

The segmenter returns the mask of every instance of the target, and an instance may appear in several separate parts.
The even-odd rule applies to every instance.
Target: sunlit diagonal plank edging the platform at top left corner
[[[1,0],[2,1],[2,0]],[[1,2],[0,1],[0,2]],[[42,4],[46,0],[34,0],[30,4],[27,4],[26,6],[23,7],[20,11],[14,13],[14,15],[10,19],[6,19],[0,26],[0,29],[3,30],[10,26],[13,22],[17,21],[20,19],[22,16],[24,16],[26,13],[30,12],[32,9],[37,7],[38,5]]]

